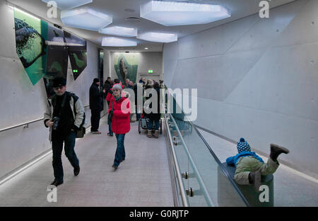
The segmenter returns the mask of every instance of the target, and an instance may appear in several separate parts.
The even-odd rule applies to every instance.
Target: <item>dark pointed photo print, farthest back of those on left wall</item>
[[[86,40],[79,38],[64,30],[67,48],[69,50],[69,60],[73,71],[74,80],[83,72],[87,65]]]

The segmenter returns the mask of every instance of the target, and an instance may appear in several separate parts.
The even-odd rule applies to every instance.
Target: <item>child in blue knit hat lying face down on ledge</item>
[[[281,153],[288,154],[289,150],[278,145],[271,144],[271,154],[267,164],[255,152],[251,152],[251,147],[244,138],[237,142],[237,152],[234,157],[228,157],[226,163],[235,166],[235,181],[240,185],[253,185],[255,191],[259,192],[261,186],[261,175],[273,174],[279,166],[277,161]]]

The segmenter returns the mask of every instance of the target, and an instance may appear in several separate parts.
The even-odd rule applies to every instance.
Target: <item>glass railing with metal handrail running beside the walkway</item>
[[[175,179],[182,182],[176,186],[184,188],[177,190],[179,202],[184,201],[185,196],[187,202],[183,206],[249,206],[199,130],[187,120],[183,111],[176,113],[179,106],[175,98],[170,99],[173,105],[170,113],[165,114],[165,122],[177,164],[175,174],[181,176]]]

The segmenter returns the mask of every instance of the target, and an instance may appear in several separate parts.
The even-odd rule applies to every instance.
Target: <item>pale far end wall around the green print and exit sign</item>
[[[118,52],[110,52],[110,76],[112,79],[117,78],[117,73],[114,69],[114,55]],[[141,75],[147,74],[147,77],[154,79],[155,77],[160,77],[163,79],[163,52],[134,52],[139,54],[139,64],[137,69],[137,81],[141,78]],[[130,53],[131,54],[131,53]],[[108,62],[105,62],[109,65]],[[153,75],[148,74],[148,70],[153,70]]]

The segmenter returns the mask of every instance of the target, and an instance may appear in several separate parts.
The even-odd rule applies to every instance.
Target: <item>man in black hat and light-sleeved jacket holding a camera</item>
[[[66,91],[66,79],[53,79],[55,94],[47,99],[47,108],[44,114],[45,127],[49,128],[49,140],[52,141],[54,181],[51,185],[59,186],[63,183],[63,166],[61,152],[64,151],[73,166],[74,176],[80,171],[76,153],[74,152],[76,130],[81,125],[85,127],[86,118],[81,100]]]

